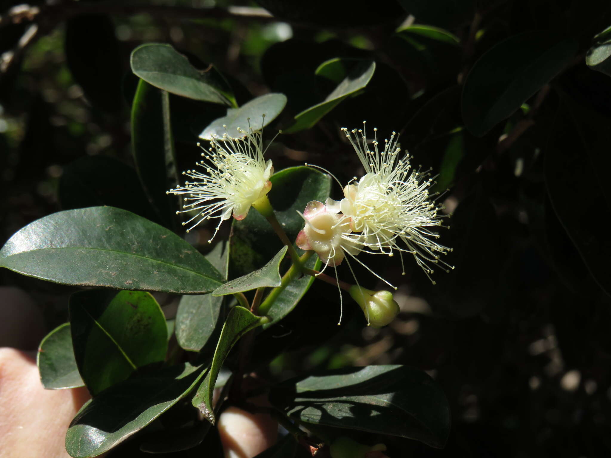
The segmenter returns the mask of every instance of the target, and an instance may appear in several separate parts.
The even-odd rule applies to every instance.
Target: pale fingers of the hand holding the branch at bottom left
[[[14,288],[0,288],[0,304],[0,458],[68,458],[65,432],[89,393],[45,390],[35,360],[45,330],[32,326],[42,313]],[[226,458],[252,458],[276,442],[277,423],[268,415],[229,407],[218,426]]]

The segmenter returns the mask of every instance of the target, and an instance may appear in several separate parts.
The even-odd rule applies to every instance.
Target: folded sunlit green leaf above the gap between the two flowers
[[[282,131],[291,134],[311,128],[346,97],[355,95],[367,87],[375,70],[376,63],[373,60],[340,58],[327,60],[318,67],[316,75],[326,76],[334,82],[338,79],[336,75],[342,75],[342,80],[321,103],[295,115],[295,122]]]

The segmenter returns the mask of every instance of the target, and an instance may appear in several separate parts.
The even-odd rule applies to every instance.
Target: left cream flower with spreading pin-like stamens
[[[177,214],[198,210],[195,216],[183,223],[196,220],[187,232],[203,220],[219,218],[214,231],[216,235],[224,220],[231,216],[238,220],[246,218],[252,203],[271,189],[269,177],[274,168],[271,161],[263,159],[265,151],[261,131],[252,128],[248,131],[238,128],[238,131],[246,136],[232,138],[225,133],[221,139],[214,137],[209,150],[202,153],[205,160],[196,163],[203,171],[183,172],[195,181],[185,181],[184,186],[167,191],[167,194],[188,196],[185,197],[188,203]]]

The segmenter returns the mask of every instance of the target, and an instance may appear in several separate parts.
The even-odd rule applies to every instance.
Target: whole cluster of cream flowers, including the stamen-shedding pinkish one
[[[436,203],[436,196],[429,192],[433,183],[430,171],[412,169],[409,154],[401,154],[394,132],[390,139],[384,140],[384,148],[379,148],[377,130],[373,129],[373,139],[368,140],[365,123],[362,129],[342,128],[365,173],[360,179],[355,176],[343,187],[342,200],[328,198],[324,203],[307,204],[303,213],[299,213],[305,226],[296,244],[302,250],[316,252],[324,263],[323,271],[327,266],[336,267],[344,259],[348,260],[346,254],[365,266],[357,258],[360,253],[387,256],[398,253],[403,273],[403,254],[412,255],[429,278],[434,266],[441,264],[446,270],[452,269],[440,256],[450,249],[437,243],[439,234],[431,230],[442,225],[444,215],[439,214],[441,207]],[[186,181],[184,186],[169,191],[188,195],[183,212],[198,210],[186,223],[195,221],[189,230],[211,218],[220,220],[216,230],[232,215],[235,219],[244,219],[252,204],[271,189],[269,177],[274,169],[271,161],[263,159],[261,132],[249,129],[240,133],[243,137],[239,139],[227,134],[222,139],[213,139],[209,150],[202,153],[205,160],[197,163],[203,172],[183,172],[196,181]],[[368,291],[358,288],[361,296],[360,290]]]

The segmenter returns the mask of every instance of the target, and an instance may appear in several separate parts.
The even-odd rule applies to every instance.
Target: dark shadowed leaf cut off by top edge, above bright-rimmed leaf
[[[399,0],[399,4],[419,24],[455,27],[470,21],[475,13],[475,0]]]

